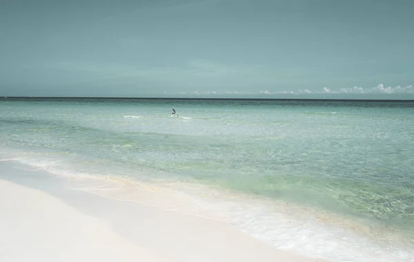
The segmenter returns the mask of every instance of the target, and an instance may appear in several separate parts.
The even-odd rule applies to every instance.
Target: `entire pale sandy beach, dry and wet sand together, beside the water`
[[[3,163],[2,177],[26,186],[0,180],[0,261],[322,261],[225,221],[160,208],[171,199],[150,190],[136,194],[146,204],[119,201],[73,190],[85,185],[77,179]]]

